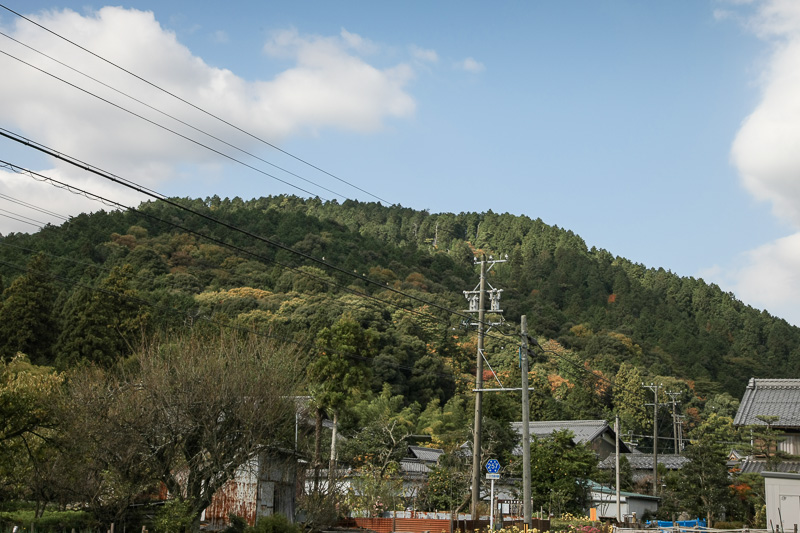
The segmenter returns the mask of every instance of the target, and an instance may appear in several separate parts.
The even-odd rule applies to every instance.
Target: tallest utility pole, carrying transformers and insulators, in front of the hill
[[[486,260],[486,256],[482,255],[480,261],[475,259],[476,263],[480,264],[481,267],[481,278],[478,286],[471,291],[464,291],[464,296],[467,298],[469,302],[469,309],[467,312],[469,313],[478,313],[478,322],[472,323],[472,325],[478,326],[478,354],[476,359],[475,365],[475,422],[473,425],[473,436],[472,436],[472,501],[470,505],[470,512],[472,513],[472,519],[478,519],[478,502],[481,498],[481,425],[482,425],[482,400],[483,400],[483,338],[486,335],[486,322],[484,320],[486,316],[486,293],[490,292],[491,297],[491,308],[489,312],[492,313],[502,313],[503,311],[500,309],[500,293],[502,289],[495,289],[494,287],[490,288],[490,291],[486,290],[486,272],[488,272],[495,263],[505,263],[505,260],[498,259],[495,260],[492,256],[489,256],[489,260]],[[487,267],[487,264],[489,265]],[[499,324],[499,322],[498,322]],[[495,325],[495,323],[488,324],[490,327]]]

